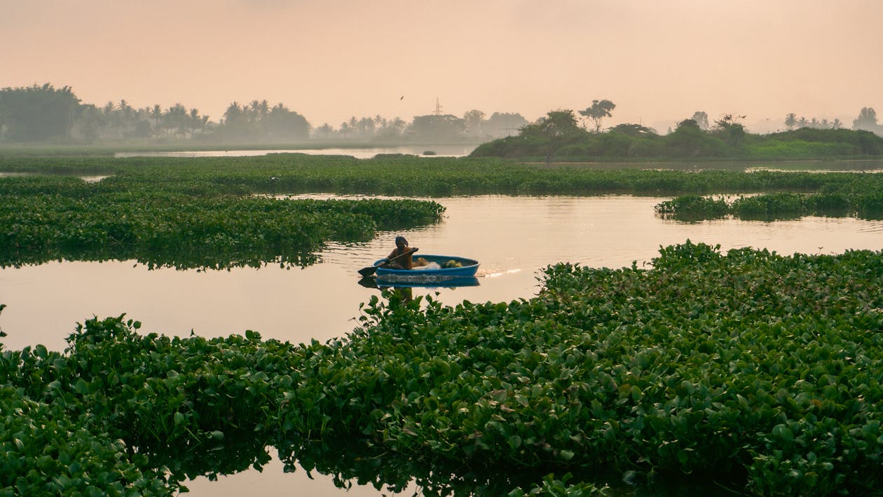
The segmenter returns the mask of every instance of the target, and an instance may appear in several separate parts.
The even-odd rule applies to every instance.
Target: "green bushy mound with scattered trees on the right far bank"
[[[573,110],[552,110],[536,123],[525,125],[517,136],[482,144],[472,156],[533,157],[550,162],[553,159],[815,159],[883,155],[883,138],[867,128],[802,127],[760,135],[746,132],[740,123],[745,116],[735,114],[724,115],[709,125],[706,113],[696,112],[666,135],[640,124],[618,124],[601,132],[601,120],[610,117],[614,108],[612,102],[594,101],[592,107],[579,111],[580,116],[592,119],[591,126],[581,124]],[[876,125],[872,109],[863,109],[862,117],[860,124],[871,127],[873,122]]]

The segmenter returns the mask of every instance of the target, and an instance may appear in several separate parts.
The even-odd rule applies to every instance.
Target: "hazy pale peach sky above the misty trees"
[[[0,0],[0,87],[46,82],[213,121],[255,99],[335,127],[608,99],[605,124],[659,132],[697,110],[849,126],[883,112],[883,0]]]

